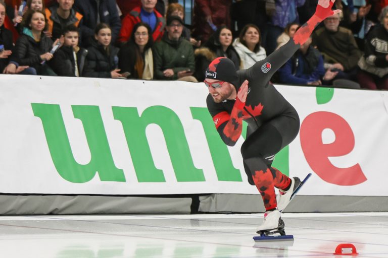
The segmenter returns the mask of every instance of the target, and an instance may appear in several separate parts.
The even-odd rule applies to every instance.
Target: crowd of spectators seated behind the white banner
[[[0,0],[0,73],[202,82],[216,57],[239,70],[276,51],[318,0],[195,0],[191,25],[178,2]],[[271,81],[388,90],[388,0],[333,9]]]

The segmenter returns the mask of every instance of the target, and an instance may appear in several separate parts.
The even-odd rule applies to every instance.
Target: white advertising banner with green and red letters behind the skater
[[[388,92],[276,86],[298,137],[273,166],[303,195],[388,196]],[[202,83],[0,75],[0,192],[258,193]],[[264,107],[265,108],[265,107]]]

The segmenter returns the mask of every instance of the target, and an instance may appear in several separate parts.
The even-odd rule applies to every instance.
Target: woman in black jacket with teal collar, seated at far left
[[[46,29],[46,18],[42,11],[29,10],[23,16],[23,34],[20,35],[15,44],[12,61],[20,66],[29,66],[22,73],[37,75],[55,75],[53,70],[47,66],[46,61],[53,58],[50,53],[54,44],[51,38],[44,35]]]

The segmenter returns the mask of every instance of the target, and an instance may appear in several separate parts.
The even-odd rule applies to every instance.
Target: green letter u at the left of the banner
[[[67,181],[84,183],[96,172],[102,181],[125,182],[122,169],[112,158],[98,106],[72,106],[75,118],[82,121],[90,150],[90,162],[80,165],[74,160],[59,105],[31,103],[34,115],[42,120],[47,145],[58,173]]]

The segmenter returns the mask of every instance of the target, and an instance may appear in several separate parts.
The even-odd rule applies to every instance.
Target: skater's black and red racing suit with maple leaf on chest
[[[284,189],[290,182],[287,176],[271,167],[273,157],[295,139],[300,126],[295,108],[269,80],[299,47],[290,40],[253,67],[237,72],[237,92],[245,80],[249,81],[245,105],[238,99],[215,103],[211,94],[207,97],[209,112],[225,144],[233,146],[238,140],[241,119],[248,123],[247,139],[241,147],[241,154],[248,180],[260,191],[266,210],[277,206],[274,186]],[[234,106],[240,108],[233,109]]]

